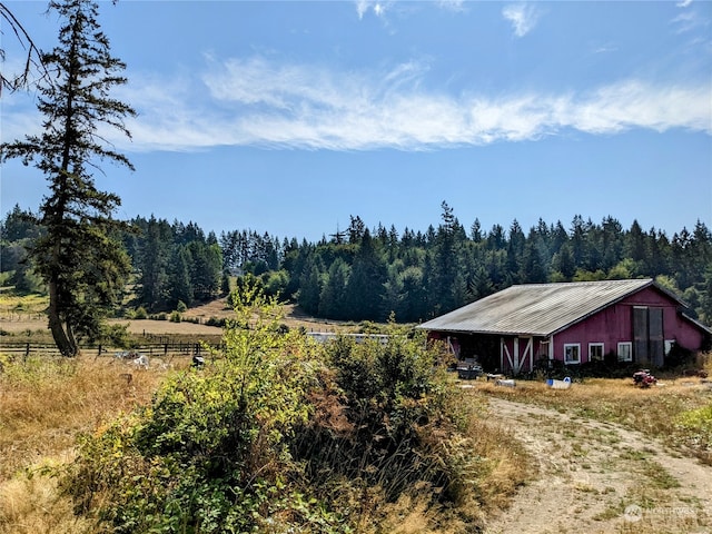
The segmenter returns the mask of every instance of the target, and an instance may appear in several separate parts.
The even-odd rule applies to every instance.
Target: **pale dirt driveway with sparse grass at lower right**
[[[712,467],[622,426],[490,398],[538,464],[487,534],[711,533]]]

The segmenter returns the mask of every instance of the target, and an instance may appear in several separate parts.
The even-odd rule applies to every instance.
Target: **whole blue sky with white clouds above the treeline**
[[[46,2],[6,4],[55,46]],[[712,228],[712,2],[120,0],[99,22],[139,112],[107,132],[136,171],[97,175],[120,218],[317,240],[425,230],[445,200],[465,228]],[[2,140],[38,131],[34,99],[2,95]],[[46,191],[3,165],[3,215]]]

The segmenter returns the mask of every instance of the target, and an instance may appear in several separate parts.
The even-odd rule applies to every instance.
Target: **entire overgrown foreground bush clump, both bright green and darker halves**
[[[231,301],[222,357],[83,438],[66,487],[98,531],[366,532],[375,495],[425,485],[457,502],[467,442],[452,439],[451,386],[423,339],[394,327],[386,345],[325,349],[280,328],[258,285]]]

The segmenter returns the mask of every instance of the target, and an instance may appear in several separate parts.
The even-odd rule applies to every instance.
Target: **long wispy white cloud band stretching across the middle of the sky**
[[[131,93],[120,96],[140,113],[127,123],[134,142],[116,142],[132,151],[218,146],[433,150],[537,140],[572,130],[615,135],[686,129],[712,136],[708,82],[631,79],[581,92],[448,95],[428,90],[427,73],[428,65],[418,61],[388,70],[334,72],[254,57],[211,63],[200,83],[134,78],[125,89]],[[31,131],[31,122],[20,123],[21,117],[6,113],[6,135]]]

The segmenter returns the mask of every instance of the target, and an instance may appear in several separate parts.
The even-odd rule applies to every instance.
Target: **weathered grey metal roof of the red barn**
[[[652,284],[653,280],[646,278],[511,286],[423,323],[419,328],[550,336]]]

